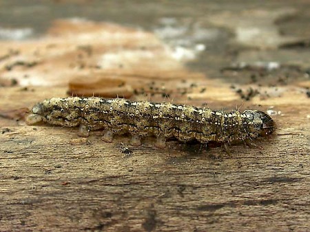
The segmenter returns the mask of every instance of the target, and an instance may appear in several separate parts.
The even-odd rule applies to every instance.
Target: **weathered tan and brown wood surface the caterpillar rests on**
[[[171,3],[161,10],[153,1],[145,10],[142,2],[130,1],[128,12],[123,2],[115,1],[112,10],[114,1],[108,2],[101,8],[81,5],[76,16],[96,12],[104,18],[98,21],[119,18],[131,25],[136,19],[158,28],[153,24],[161,17],[183,15],[176,17],[176,32],[184,27],[189,35],[177,34],[170,39],[174,44],[139,25],[134,30],[67,20],[45,22],[52,26],[39,38],[0,41],[0,231],[309,231],[310,56],[300,40],[309,38],[309,3],[299,1],[296,12],[281,10],[282,1],[268,1],[265,10],[255,10],[261,1],[227,1],[226,7],[226,1],[204,1],[184,8]],[[66,9],[72,5],[42,10],[39,19],[75,15]],[[29,5],[25,11],[29,19],[37,16]],[[110,19],[111,12],[119,17]],[[296,18],[289,21],[293,12]],[[34,21],[41,25],[37,17]],[[208,32],[211,36],[195,40]],[[255,41],[248,32],[255,33]],[[288,35],[299,42],[294,45]],[[189,46],[180,49],[184,57],[176,56],[183,38],[193,47],[206,43],[205,50]],[[17,120],[24,108],[68,92],[141,100],[140,92],[157,101],[207,102],[214,110],[255,108],[272,113],[277,129],[255,141],[257,148],[231,146],[229,157],[220,146],[168,141],[167,148],[158,149],[146,138],[132,147],[126,136],[105,143],[100,131],[83,139],[77,128]]]

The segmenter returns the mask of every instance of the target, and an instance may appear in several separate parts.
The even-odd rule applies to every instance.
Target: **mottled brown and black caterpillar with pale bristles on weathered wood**
[[[79,126],[79,135],[104,129],[103,141],[129,132],[131,144],[141,145],[141,137],[155,136],[156,146],[165,147],[167,138],[179,141],[215,141],[228,144],[270,135],[273,119],[262,111],[211,111],[209,108],[169,102],[130,101],[122,98],[54,97],[35,104],[26,122]]]

